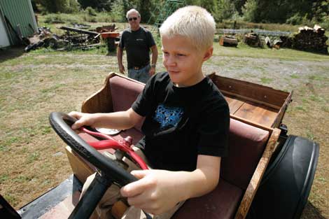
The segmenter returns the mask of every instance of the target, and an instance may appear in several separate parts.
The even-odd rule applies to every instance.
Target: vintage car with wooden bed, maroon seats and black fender
[[[188,199],[173,218],[300,218],[316,171],[318,144],[288,135],[286,125],[281,123],[293,92],[216,73],[208,77],[230,106],[230,155],[221,161],[217,188]],[[143,83],[110,73],[102,89],[83,102],[81,111],[127,110],[143,88]],[[51,113],[49,120],[67,143],[73,175],[19,211],[0,196],[1,218],[89,218],[109,185],[122,186],[137,180],[125,171],[123,156],[145,168],[130,149],[143,136],[141,124],[109,136],[90,127],[76,134],[70,128],[73,118],[65,113]],[[97,177],[79,201],[83,183],[95,171]],[[120,218],[126,208],[125,200],[114,204],[113,217]]]

